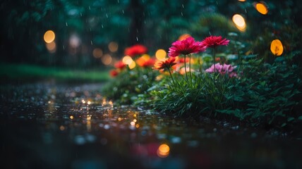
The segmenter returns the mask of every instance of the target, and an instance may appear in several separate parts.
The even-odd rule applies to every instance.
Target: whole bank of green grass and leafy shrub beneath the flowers
[[[192,73],[191,82],[174,74],[175,84],[164,80],[151,92],[152,106],[183,117],[236,118],[279,127],[297,123],[302,115],[297,111],[301,97],[298,67],[284,56],[273,64],[256,57],[242,58],[237,78]]]

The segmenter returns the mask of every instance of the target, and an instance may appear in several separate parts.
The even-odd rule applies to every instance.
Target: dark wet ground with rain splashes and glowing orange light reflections
[[[302,168],[300,137],[144,108],[102,84],[1,84],[0,168]]]

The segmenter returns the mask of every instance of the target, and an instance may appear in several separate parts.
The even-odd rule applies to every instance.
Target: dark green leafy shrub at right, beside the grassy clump
[[[296,65],[288,65],[285,61],[271,65],[250,59],[243,62],[241,71],[241,79],[236,80],[231,86],[233,92],[226,96],[233,101],[233,108],[221,110],[221,113],[240,110],[241,113],[234,115],[255,124],[282,126],[297,120],[301,113],[293,109],[299,102],[301,77]]]

